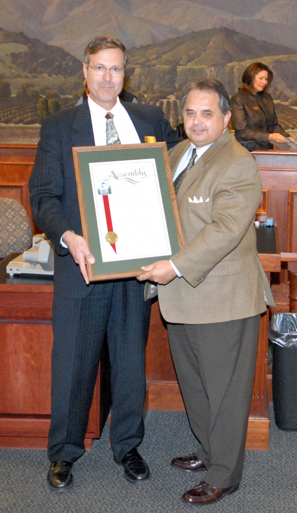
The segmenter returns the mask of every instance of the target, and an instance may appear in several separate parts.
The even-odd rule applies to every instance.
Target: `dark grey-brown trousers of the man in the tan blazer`
[[[206,483],[241,481],[260,315],[210,324],[168,324],[190,426],[201,445]]]

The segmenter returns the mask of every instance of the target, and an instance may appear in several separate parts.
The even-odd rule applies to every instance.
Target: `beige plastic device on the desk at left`
[[[13,259],[6,272],[14,274],[54,274],[54,248],[44,233],[33,236],[32,248]]]

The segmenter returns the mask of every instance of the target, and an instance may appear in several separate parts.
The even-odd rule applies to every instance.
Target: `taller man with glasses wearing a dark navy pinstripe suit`
[[[30,178],[33,216],[55,247],[52,351],[52,415],[47,483],[51,490],[73,485],[72,465],[84,452],[102,342],[111,360],[110,442],[116,463],[132,483],[150,470],[137,451],[144,435],[145,343],[150,304],[135,279],[89,285],[86,261],[94,263],[82,238],[73,146],[143,143],[145,135],[179,142],[158,107],[118,100],[126,53],[112,37],[96,37],[84,53],[87,102],[49,116]]]

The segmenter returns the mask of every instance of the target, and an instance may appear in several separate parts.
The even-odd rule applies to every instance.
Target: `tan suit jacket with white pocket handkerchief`
[[[169,154],[174,175],[189,146]],[[273,304],[258,259],[254,215],[261,201],[252,155],[225,130],[188,172],[177,194],[185,246],[172,257],[182,278],[158,286],[164,319],[201,324],[243,319]]]

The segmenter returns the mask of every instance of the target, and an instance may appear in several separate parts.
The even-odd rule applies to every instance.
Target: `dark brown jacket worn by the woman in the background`
[[[253,141],[258,149],[273,149],[268,142],[270,133],[289,134],[279,125],[272,97],[268,93],[257,94],[238,90],[231,97],[231,122],[239,143]]]

